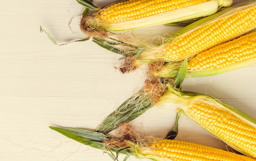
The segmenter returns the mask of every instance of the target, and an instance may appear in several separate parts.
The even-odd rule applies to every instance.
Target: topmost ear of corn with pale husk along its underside
[[[232,0],[121,0],[83,19],[88,28],[130,30],[211,15],[231,4]]]

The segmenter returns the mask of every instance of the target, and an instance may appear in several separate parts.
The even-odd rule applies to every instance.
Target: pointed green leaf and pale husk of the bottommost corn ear
[[[70,139],[78,141],[81,144],[103,150],[113,159],[113,161],[119,161],[119,154],[126,155],[123,161],[126,161],[130,156],[135,156],[138,159],[150,159],[153,161],[170,161],[170,159],[155,153],[152,148],[148,147],[148,145],[146,145],[146,147],[143,145],[141,146],[140,144],[134,143],[130,140],[123,139],[127,146],[118,148],[116,146],[108,146],[106,143],[103,143],[104,140],[109,140],[111,137],[102,133],[77,128],[75,129],[54,126],[49,126],[49,128],[63,134],[66,137],[69,137]],[[157,138],[155,138],[155,140],[156,139]]]

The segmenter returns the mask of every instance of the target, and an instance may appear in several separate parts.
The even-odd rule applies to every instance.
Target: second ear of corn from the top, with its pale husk
[[[165,40],[153,49],[145,49],[138,59],[145,62],[189,59],[256,28],[255,13],[256,1],[245,0],[182,28],[169,41]]]

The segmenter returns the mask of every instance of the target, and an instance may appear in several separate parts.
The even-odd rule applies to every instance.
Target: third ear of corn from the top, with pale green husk
[[[212,76],[240,69],[256,63],[256,31],[240,36],[231,41],[213,46],[191,58],[186,69],[180,66],[179,71],[186,77]],[[150,71],[158,77],[173,77],[180,62],[166,63],[160,69]],[[180,80],[180,84],[183,80]]]

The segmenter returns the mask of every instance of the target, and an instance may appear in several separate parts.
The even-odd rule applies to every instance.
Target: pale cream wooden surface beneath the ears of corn
[[[95,0],[101,7],[108,3]],[[143,70],[120,74],[114,68],[120,64],[119,56],[91,40],[55,46],[39,32],[41,25],[60,44],[81,39],[72,34],[68,23],[82,11],[76,0],[0,2],[1,161],[111,161],[101,150],[48,128],[94,129],[146,79]],[[78,24],[78,20],[73,22]],[[183,89],[215,96],[256,117],[255,70],[252,65],[218,76],[187,79]],[[148,135],[164,137],[173,128],[174,116],[172,109],[152,108],[132,123]],[[184,116],[177,139],[226,149]]]

